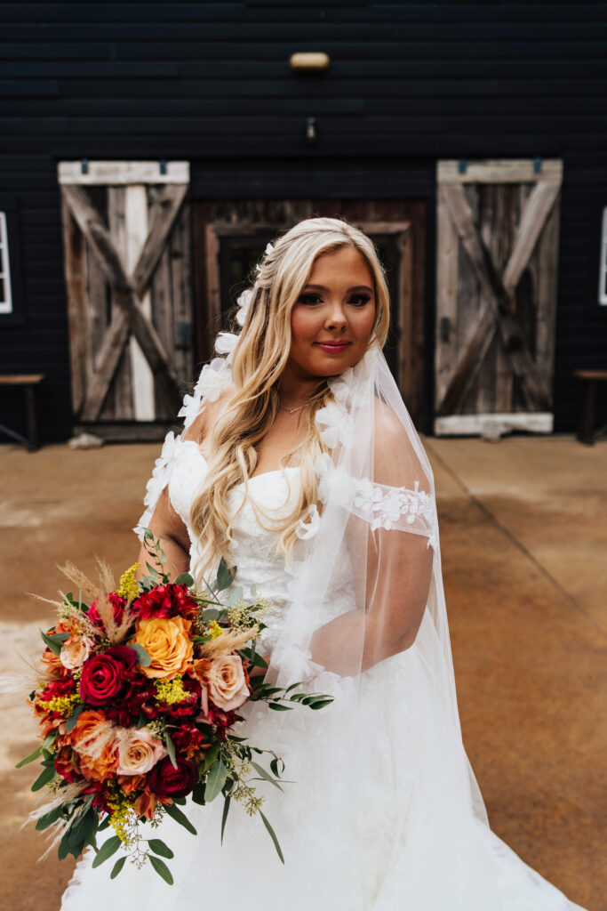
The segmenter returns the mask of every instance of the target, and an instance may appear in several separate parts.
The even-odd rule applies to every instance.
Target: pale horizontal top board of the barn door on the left
[[[162,173],[159,161],[87,161],[86,174],[82,161],[59,161],[60,184],[110,185],[132,183],[189,183],[189,161],[167,161]]]

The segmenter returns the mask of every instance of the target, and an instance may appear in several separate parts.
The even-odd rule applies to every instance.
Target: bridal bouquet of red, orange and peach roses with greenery
[[[233,733],[243,721],[237,710],[263,700],[285,711],[302,703],[320,709],[330,696],[286,689],[253,675],[267,667],[256,644],[271,605],[252,592],[254,603],[233,589],[236,569],[221,561],[218,576],[204,590],[184,573],[170,582],[165,555],[149,529],[144,546],[152,560],[137,580],[139,564],[116,583],[100,563],[99,585],[75,567],[64,568],[78,588],[62,595],[55,626],[43,632],[40,680],[29,700],[42,743],[18,766],[40,758],[42,772],[33,791],[50,790],[35,810],[37,829],[50,829],[59,859],[77,857],[86,845],[98,866],[119,848],[112,878],[130,856],[149,863],[167,883],[165,860],[173,852],[159,838],[144,838],[141,824],[156,828],[165,814],[192,834],[196,829],[180,806],[224,799],[223,839],[232,799],[248,814],[258,813],[284,863],[280,845],[261,810],[251,782],[265,779],[280,788],[284,763]],[[269,770],[253,756],[268,753]],[[101,846],[97,834],[114,832]],[[50,848],[49,848],[50,850]]]

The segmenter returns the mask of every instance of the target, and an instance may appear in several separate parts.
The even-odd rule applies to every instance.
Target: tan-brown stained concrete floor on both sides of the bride
[[[492,828],[590,911],[607,911],[607,442],[569,436],[424,440],[435,472],[460,716]],[[63,587],[57,563],[118,573],[157,445],[33,455],[0,446],[3,673]],[[35,865],[44,837],[20,829],[34,805],[34,745],[21,701],[2,696],[0,906],[56,911],[71,866]],[[8,736],[10,735],[10,736]],[[446,909],[448,911],[448,909]],[[488,909],[490,911],[490,909]]]

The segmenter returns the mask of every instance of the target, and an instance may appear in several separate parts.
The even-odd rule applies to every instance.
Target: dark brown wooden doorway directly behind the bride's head
[[[410,415],[423,412],[423,200],[200,200],[194,206],[198,350],[229,322],[238,293],[268,241],[311,216],[343,216],[369,234],[387,271],[391,328],[385,348]]]

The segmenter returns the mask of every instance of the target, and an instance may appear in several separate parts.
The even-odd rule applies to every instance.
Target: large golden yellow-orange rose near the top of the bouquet
[[[189,640],[191,620],[183,617],[154,617],[139,620],[137,632],[130,640],[143,646],[151,658],[147,668],[139,665],[147,677],[175,677],[190,667],[194,647]]]

